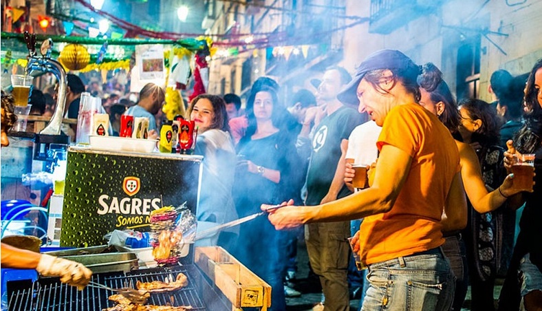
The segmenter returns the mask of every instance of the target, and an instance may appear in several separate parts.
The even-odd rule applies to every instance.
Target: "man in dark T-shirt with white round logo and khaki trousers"
[[[330,67],[318,87],[324,116],[315,126],[307,170],[305,204],[325,204],[349,195],[344,182],[345,151],[351,131],[362,123],[356,110],[343,105],[337,94],[351,76],[343,67]],[[326,310],[349,310],[347,268],[350,222],[305,226],[305,241],[314,273],[320,277]]]

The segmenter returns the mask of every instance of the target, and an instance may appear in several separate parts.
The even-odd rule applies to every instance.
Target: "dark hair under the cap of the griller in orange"
[[[390,70],[393,74],[393,86],[395,86],[395,83],[397,80],[400,80],[402,82],[402,85],[405,89],[407,89],[407,92],[414,95],[414,99],[416,103],[420,102],[420,98],[422,98],[422,94],[420,93],[420,86],[418,85],[418,75],[422,73],[421,66],[416,66],[416,69],[413,70],[411,68],[409,69],[376,69],[372,70],[370,72],[367,72],[365,74],[364,78],[367,80],[367,82],[371,83],[373,87],[382,94],[387,94],[388,92],[382,89],[380,87],[380,82],[382,79],[382,74],[386,70]]]

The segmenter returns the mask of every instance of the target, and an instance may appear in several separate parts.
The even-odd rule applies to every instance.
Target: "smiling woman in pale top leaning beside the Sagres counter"
[[[235,220],[237,212],[232,198],[235,149],[226,103],[220,96],[202,94],[192,100],[187,114],[197,127],[194,152],[204,156],[197,220],[217,224]],[[230,250],[237,239],[237,232],[235,227],[222,231],[218,244]]]

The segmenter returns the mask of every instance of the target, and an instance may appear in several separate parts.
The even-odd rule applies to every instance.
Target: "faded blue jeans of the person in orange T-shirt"
[[[369,265],[361,310],[449,310],[455,280],[441,248]]]

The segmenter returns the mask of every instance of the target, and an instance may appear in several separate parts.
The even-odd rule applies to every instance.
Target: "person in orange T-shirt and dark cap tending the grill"
[[[362,310],[449,310],[453,300],[453,273],[440,246],[442,230],[457,219],[442,215],[443,208],[466,208],[466,198],[450,132],[418,104],[420,73],[401,52],[381,50],[338,95],[382,127],[369,188],[269,215],[277,229],[365,217],[351,242],[360,265],[369,268]]]

